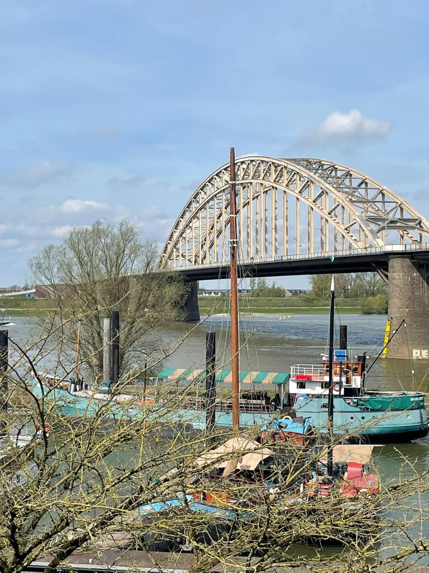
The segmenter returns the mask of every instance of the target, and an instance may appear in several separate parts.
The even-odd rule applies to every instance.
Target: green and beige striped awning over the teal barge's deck
[[[205,370],[201,368],[192,370],[192,368],[166,368],[158,378],[168,380],[204,380]],[[288,382],[291,375],[287,372],[258,372],[249,370],[240,370],[239,380],[241,384],[284,384]],[[231,370],[216,370],[216,382],[232,383]]]

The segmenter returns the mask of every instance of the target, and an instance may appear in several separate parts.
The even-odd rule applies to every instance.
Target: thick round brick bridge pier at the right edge
[[[389,259],[388,317],[391,330],[402,326],[387,348],[387,358],[429,359],[429,262]]]

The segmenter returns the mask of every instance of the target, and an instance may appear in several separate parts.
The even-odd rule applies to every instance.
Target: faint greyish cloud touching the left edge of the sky
[[[72,168],[67,163],[39,161],[25,169],[3,175],[1,180],[9,186],[30,189],[45,183],[55,183],[59,179],[69,176],[71,172]]]

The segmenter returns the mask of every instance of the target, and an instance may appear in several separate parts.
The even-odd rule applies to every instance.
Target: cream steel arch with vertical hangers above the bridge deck
[[[404,199],[338,163],[247,156],[236,160],[236,180],[242,264],[381,253],[387,245],[415,250],[429,236],[428,221]],[[183,272],[225,267],[228,223],[229,163],[186,203],[160,267]]]

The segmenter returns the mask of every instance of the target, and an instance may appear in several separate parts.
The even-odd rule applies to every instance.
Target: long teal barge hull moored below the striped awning
[[[255,373],[258,375],[259,373]],[[267,373],[265,373],[267,374]],[[254,425],[272,425],[276,419],[291,415],[292,418],[303,417],[311,426],[326,431],[327,429],[327,396],[307,395],[288,392],[289,374],[276,373],[276,376],[261,374],[261,380],[270,379],[270,383],[276,380],[275,398],[268,402],[261,401],[261,406],[256,408],[255,401],[240,400],[240,427],[246,428]],[[229,374],[221,374],[221,378],[228,379]],[[245,380],[247,372],[240,372],[240,378]],[[263,382],[260,383],[263,384]],[[345,384],[344,384],[345,386]],[[269,387],[268,382],[265,388]],[[91,417],[98,411],[103,401],[109,399],[108,394],[94,393],[89,390],[71,392],[58,385],[44,386],[45,395],[49,401],[57,404],[61,415],[77,417]],[[101,389],[103,391],[103,389]],[[106,388],[104,388],[104,391]],[[39,383],[33,383],[33,391],[41,397]],[[164,406],[161,403],[146,408],[135,405],[135,397],[131,395],[119,395],[112,398],[117,400],[112,407],[106,410],[106,416],[116,418],[118,416],[130,419],[146,415],[157,416]],[[228,403],[217,403],[215,423],[217,426],[232,426],[232,411]],[[289,404],[289,405],[288,405]],[[245,411],[248,410],[248,411]],[[249,411],[251,410],[251,411]],[[334,425],[335,434],[345,437],[356,436],[373,443],[380,442],[407,442],[426,436],[429,433],[428,419],[424,407],[424,394],[421,392],[371,392],[364,395],[344,396],[343,393],[334,397]],[[195,407],[184,409],[165,409],[165,417],[161,418],[166,426],[175,424],[189,425],[194,429],[204,429],[206,412],[204,402],[196,403]],[[292,422],[292,421],[291,421]],[[307,428],[307,424],[303,425]],[[297,431],[294,429],[294,431]],[[305,430],[306,431],[306,430]]]

